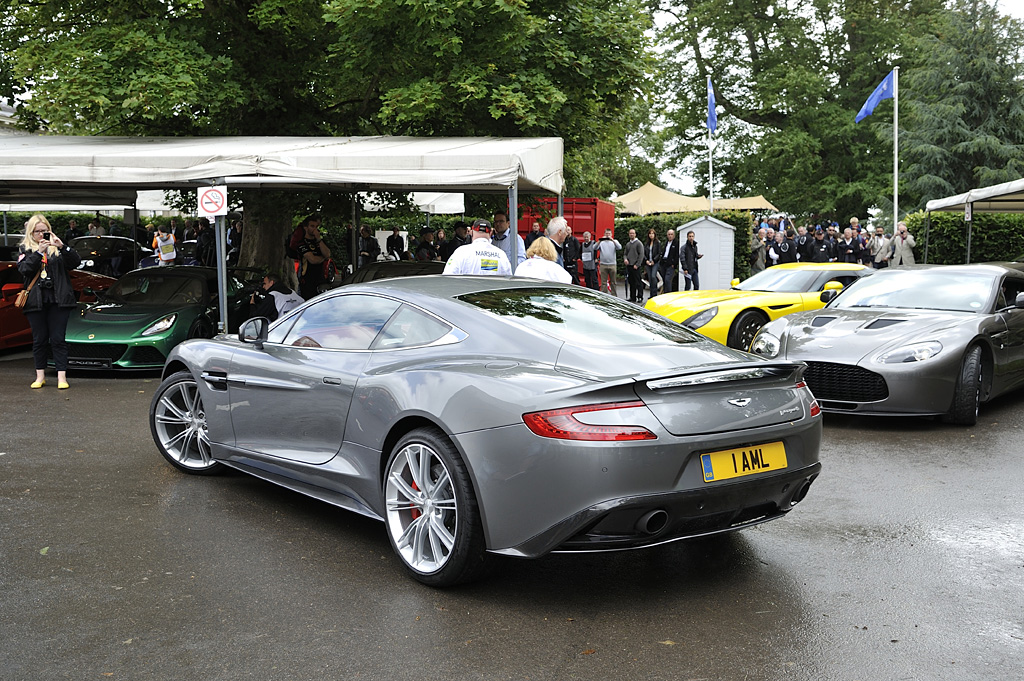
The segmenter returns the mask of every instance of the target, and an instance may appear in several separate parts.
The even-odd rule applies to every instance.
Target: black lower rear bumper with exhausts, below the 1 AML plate
[[[495,553],[534,558],[552,552],[623,551],[742,529],[785,515],[820,472],[821,464],[814,463],[707,488],[623,497],[584,509]]]

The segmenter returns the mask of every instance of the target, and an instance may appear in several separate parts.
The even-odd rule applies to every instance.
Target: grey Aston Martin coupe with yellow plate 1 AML
[[[803,372],[581,287],[414,276],[181,343],[150,425],[184,472],[230,466],[382,519],[413,577],[446,586],[488,552],[784,515],[820,471]]]

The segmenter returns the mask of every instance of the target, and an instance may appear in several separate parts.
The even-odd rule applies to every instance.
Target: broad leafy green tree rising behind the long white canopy
[[[566,158],[603,158],[624,154],[650,87],[641,0],[8,0],[5,9],[0,95],[31,95],[20,119],[67,133],[560,136]],[[256,251],[244,246],[243,262],[276,262],[305,202],[246,196],[245,232],[276,233]]]

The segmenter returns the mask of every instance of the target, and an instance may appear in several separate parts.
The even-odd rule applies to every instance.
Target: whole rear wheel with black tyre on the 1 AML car
[[[388,540],[415,580],[451,587],[483,574],[489,561],[476,496],[444,433],[431,427],[407,433],[381,484]]]

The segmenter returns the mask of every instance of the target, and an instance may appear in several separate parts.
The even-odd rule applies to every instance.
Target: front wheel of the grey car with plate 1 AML
[[[206,412],[196,381],[179,381],[168,386],[155,408],[156,434],[168,457],[191,470],[217,465],[210,456]]]

